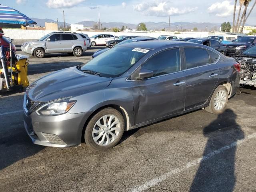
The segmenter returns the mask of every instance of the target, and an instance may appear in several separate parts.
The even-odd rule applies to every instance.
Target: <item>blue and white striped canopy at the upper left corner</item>
[[[0,4],[0,27],[20,28],[30,24],[37,23],[23,13]]]

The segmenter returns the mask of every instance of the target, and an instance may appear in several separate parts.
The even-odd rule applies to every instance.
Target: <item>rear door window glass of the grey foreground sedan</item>
[[[208,52],[201,48],[184,48],[187,69],[210,64]]]

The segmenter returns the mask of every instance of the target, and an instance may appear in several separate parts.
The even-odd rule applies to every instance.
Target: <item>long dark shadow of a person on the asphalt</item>
[[[225,146],[232,145],[232,148],[211,158],[202,159],[190,192],[232,192],[236,184],[236,142],[244,138],[244,132],[236,123],[236,114],[230,109],[225,110],[204,128],[203,134],[208,137],[204,157]]]

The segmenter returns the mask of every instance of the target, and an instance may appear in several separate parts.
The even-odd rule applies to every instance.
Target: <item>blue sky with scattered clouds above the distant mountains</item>
[[[169,22],[169,16],[171,23],[232,22],[234,9],[234,0],[1,0],[0,3],[40,19],[63,21],[64,10],[65,21],[70,24],[97,21],[98,12],[100,22]],[[247,23],[256,25],[256,8]]]

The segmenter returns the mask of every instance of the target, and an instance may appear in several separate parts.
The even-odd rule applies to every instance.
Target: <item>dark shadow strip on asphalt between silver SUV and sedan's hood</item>
[[[74,67],[84,64],[84,62],[51,62],[28,65],[28,75],[41,74],[58,71],[64,68]]]

